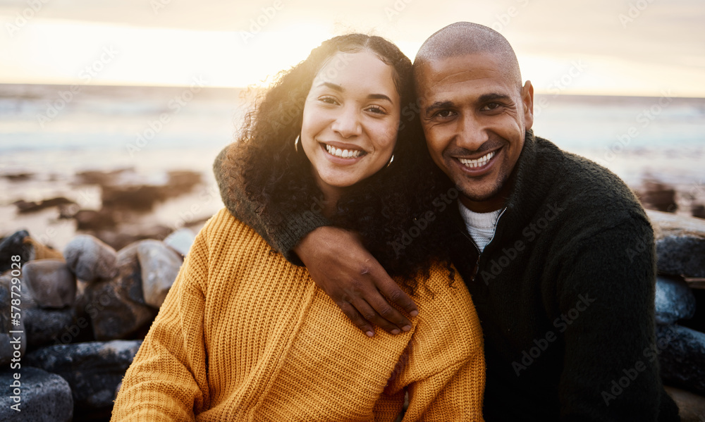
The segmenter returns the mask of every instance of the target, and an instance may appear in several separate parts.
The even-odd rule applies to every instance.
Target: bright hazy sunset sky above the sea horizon
[[[413,59],[458,20],[501,32],[538,93],[705,97],[702,0],[0,0],[0,83],[266,85],[334,35]]]

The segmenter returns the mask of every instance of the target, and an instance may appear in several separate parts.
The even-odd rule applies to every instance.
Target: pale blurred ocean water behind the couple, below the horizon
[[[233,140],[246,111],[245,92],[0,84],[0,236],[20,226],[42,232],[56,220],[51,211],[18,215],[13,202],[20,199],[75,201],[82,195],[88,198],[82,206],[98,209],[99,194],[75,180],[75,173],[85,170],[130,168],[154,184],[163,182],[168,170],[199,171],[205,180],[200,192],[161,204],[154,215],[173,224],[180,209],[203,203],[204,196],[214,200],[200,207],[200,217],[214,213],[222,204],[210,168]],[[661,97],[537,94],[534,132],[606,166],[630,187],[655,180],[673,186],[679,204],[705,203],[705,99],[668,92]],[[23,174],[27,177],[12,177]],[[55,243],[72,235],[71,228],[65,231]]]

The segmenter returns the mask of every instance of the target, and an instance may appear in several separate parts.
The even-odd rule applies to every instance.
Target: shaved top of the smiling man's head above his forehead
[[[431,35],[416,54],[414,68],[444,58],[470,54],[495,55],[503,64],[507,75],[513,78],[521,89],[522,75],[514,49],[499,32],[477,23],[451,23]]]

